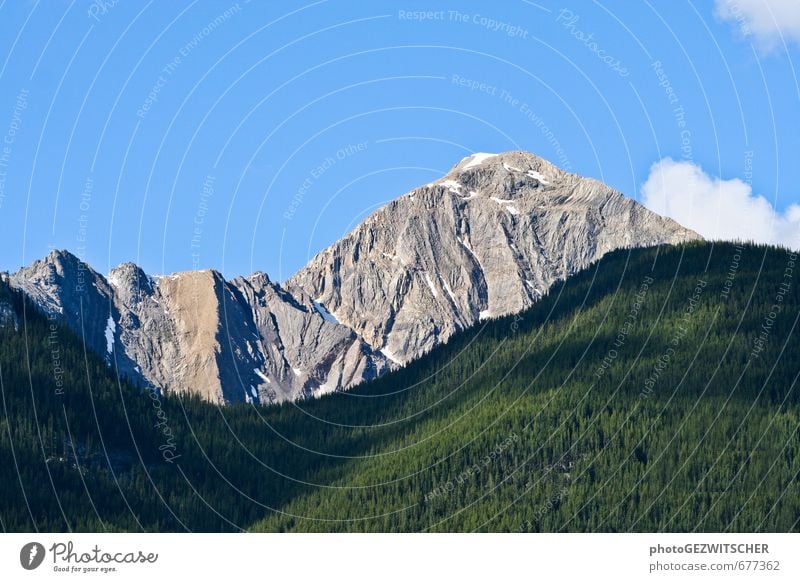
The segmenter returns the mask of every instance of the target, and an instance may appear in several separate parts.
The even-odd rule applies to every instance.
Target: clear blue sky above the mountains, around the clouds
[[[59,247],[283,280],[511,149],[786,242],[798,38],[794,0],[5,1],[0,268]]]

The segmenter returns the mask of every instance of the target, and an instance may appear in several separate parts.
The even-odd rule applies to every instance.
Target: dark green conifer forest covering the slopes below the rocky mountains
[[[798,531],[800,266],[620,250],[349,392],[118,378],[3,283],[3,531]]]

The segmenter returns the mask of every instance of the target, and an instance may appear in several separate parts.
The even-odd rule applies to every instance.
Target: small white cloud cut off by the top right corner
[[[800,42],[798,0],[716,0],[717,18],[731,23],[744,38],[755,38],[762,50]]]

